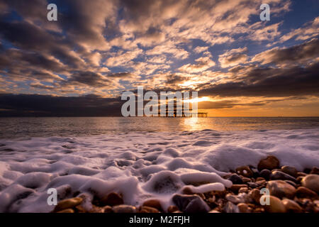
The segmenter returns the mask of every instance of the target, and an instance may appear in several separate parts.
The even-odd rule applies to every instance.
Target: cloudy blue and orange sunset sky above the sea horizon
[[[0,116],[119,116],[138,86],[197,91],[208,116],[319,116],[317,0],[0,0],[0,28]]]

